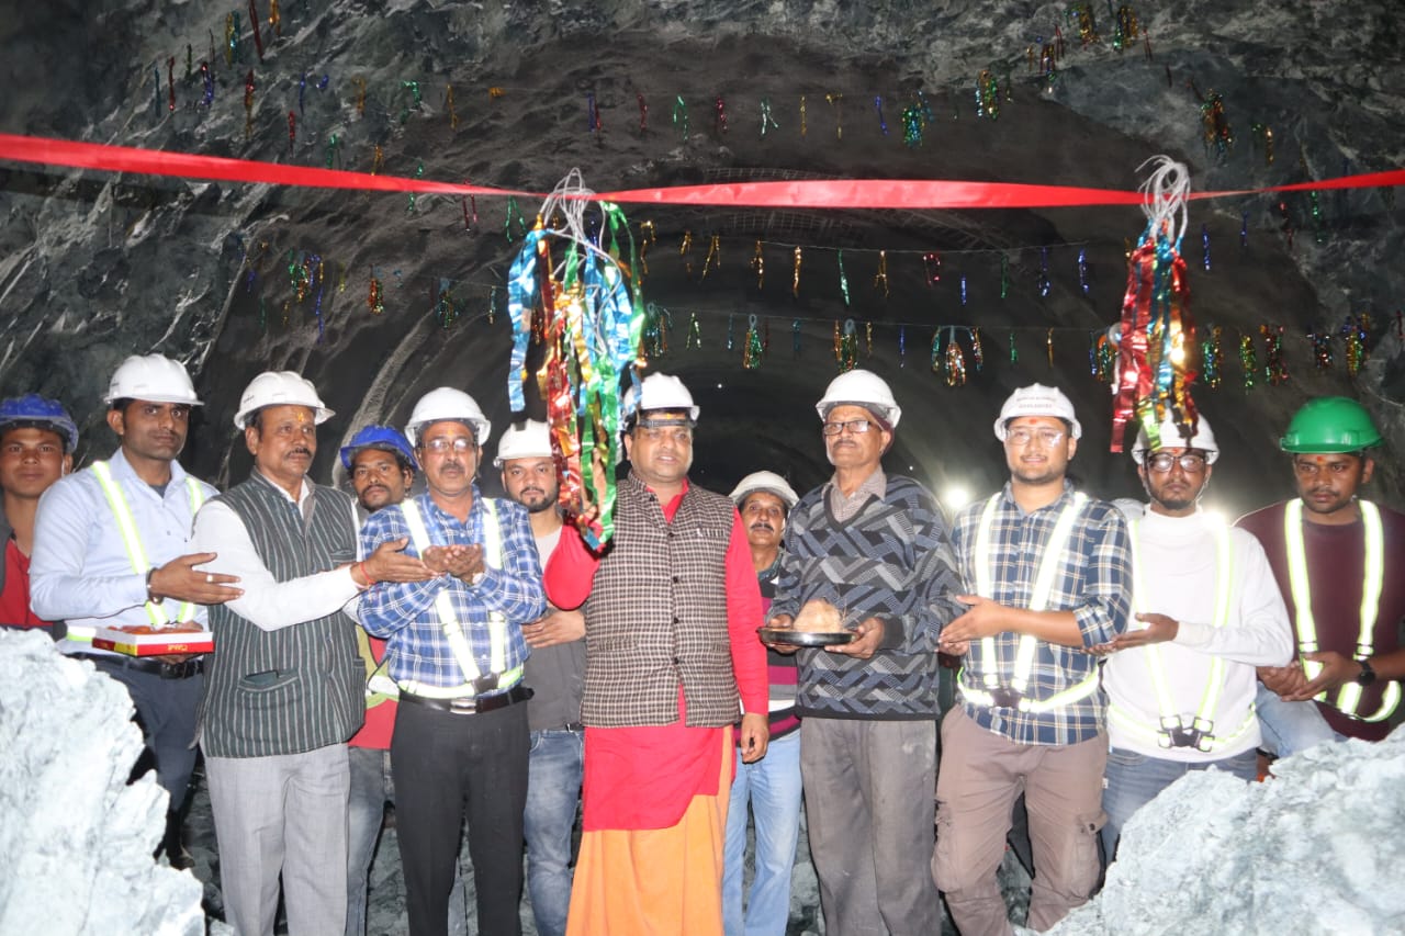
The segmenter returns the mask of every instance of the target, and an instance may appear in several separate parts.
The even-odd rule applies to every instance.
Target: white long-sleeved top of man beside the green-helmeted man
[[[1121,507],[1123,505],[1118,503]],[[1138,505],[1139,507],[1139,505]],[[1252,534],[1228,530],[1232,554],[1229,614],[1224,627],[1214,625],[1215,586],[1221,561],[1218,537],[1205,514],[1168,517],[1145,510],[1130,514],[1137,537],[1135,583],[1142,593],[1134,611],[1165,614],[1179,623],[1176,638],[1156,644],[1170,697],[1186,727],[1205,694],[1211,661],[1225,662],[1224,689],[1214,711],[1213,734],[1227,736],[1249,718],[1253,706],[1256,666],[1283,666],[1293,658],[1293,630],[1269,559]],[[1135,618],[1128,630],[1145,628]],[[1146,648],[1118,651],[1103,668],[1103,689],[1113,707],[1155,729],[1161,720],[1156,687]],[[1259,745],[1257,718],[1234,743],[1201,752],[1196,748],[1162,748],[1155,739],[1109,717],[1107,736],[1113,748],[1135,750],[1162,760],[1203,763],[1222,760]]]

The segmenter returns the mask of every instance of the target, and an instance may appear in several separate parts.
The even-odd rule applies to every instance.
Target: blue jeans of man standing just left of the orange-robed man
[[[570,832],[580,802],[584,735],[565,728],[531,732],[527,762],[527,891],[540,936],[565,936],[570,906]]]

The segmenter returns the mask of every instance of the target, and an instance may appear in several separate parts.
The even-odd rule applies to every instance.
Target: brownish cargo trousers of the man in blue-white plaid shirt
[[[1024,793],[1034,849],[1030,929],[1045,930],[1087,902],[1097,884],[1107,735],[1066,745],[1020,745],[960,707],[941,722],[937,847],[932,876],[961,936],[1013,932],[995,871],[1010,810]]]

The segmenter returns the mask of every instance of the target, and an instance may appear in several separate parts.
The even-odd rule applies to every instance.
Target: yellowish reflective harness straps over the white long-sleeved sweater
[[[1234,592],[1234,550],[1229,544],[1229,528],[1224,523],[1210,516],[1201,514],[1203,521],[1210,526],[1215,535],[1215,610],[1211,627],[1224,627],[1229,621],[1229,600]],[[1142,575],[1141,545],[1137,541],[1135,520],[1128,519],[1127,526],[1132,545],[1132,606],[1138,614],[1151,611],[1146,607],[1146,587]],[[1146,652],[1146,669],[1151,670],[1152,684],[1156,689],[1156,710],[1161,715],[1159,724],[1152,727],[1137,718],[1135,713],[1127,711],[1116,701],[1109,706],[1107,717],[1118,727],[1135,732],[1148,741],[1155,741],[1162,748],[1194,748],[1210,753],[1236,741],[1253,725],[1253,704],[1249,706],[1248,717],[1228,735],[1215,735],[1215,707],[1220,706],[1220,694],[1225,687],[1225,663],[1218,656],[1210,656],[1210,675],[1205,676],[1205,689],[1200,696],[1200,707],[1186,725],[1184,718],[1176,708],[1176,701],[1170,697],[1166,684],[1166,663],[1162,661],[1161,648],[1148,644],[1142,648]]]

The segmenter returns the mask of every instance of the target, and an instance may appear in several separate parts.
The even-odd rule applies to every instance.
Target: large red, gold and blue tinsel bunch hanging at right
[[[1127,294],[1118,330],[1111,451],[1123,450],[1130,422],[1138,423],[1155,448],[1161,426],[1172,420],[1194,433],[1197,412],[1190,388],[1197,377],[1200,346],[1190,316],[1186,232],[1190,173],[1166,156],[1151,160],[1141,186],[1146,229],[1127,267]],[[1144,164],[1145,166],[1145,164]]]

